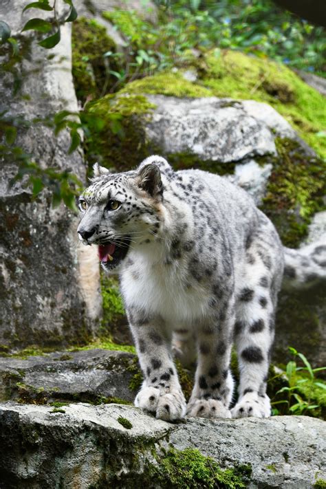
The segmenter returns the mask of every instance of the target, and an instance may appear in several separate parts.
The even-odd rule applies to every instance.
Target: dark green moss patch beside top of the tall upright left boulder
[[[76,95],[85,102],[103,96],[116,83],[109,72],[118,71],[114,41],[95,20],[80,17],[72,26],[72,75]]]

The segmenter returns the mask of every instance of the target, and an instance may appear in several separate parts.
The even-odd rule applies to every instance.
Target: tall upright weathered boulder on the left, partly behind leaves
[[[17,122],[15,145],[32,155],[42,169],[72,171],[85,182],[83,152],[67,153],[69,132],[55,136],[48,124],[28,124],[34,118],[51,119],[63,109],[78,110],[71,74],[71,28],[68,23],[62,26],[61,42],[49,53],[33,41],[33,35],[19,33],[33,17],[32,9],[22,14],[25,4],[5,0],[0,5],[1,19],[27,50],[15,66],[23,75],[17,94],[12,91],[12,73],[1,72],[0,112],[7,111],[6,117],[14,121],[27,121]],[[1,48],[1,56],[3,60],[6,47]],[[91,250],[85,257],[76,239],[76,215],[63,205],[53,208],[47,188],[34,198],[24,182],[10,185],[17,169],[12,157],[4,157],[0,170],[0,343],[19,347],[85,342],[98,331],[101,314],[96,252]]]

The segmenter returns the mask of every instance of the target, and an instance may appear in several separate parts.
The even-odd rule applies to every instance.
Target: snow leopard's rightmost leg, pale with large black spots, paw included
[[[274,245],[274,246],[273,246]],[[268,417],[268,367],[274,340],[277,292],[283,274],[279,240],[258,240],[248,248],[237,287],[235,344],[239,362],[239,400],[232,417]]]

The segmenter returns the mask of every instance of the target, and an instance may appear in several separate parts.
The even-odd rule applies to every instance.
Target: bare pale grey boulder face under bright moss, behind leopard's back
[[[147,97],[157,107],[146,125],[146,135],[165,154],[189,153],[203,161],[223,163],[276,155],[269,127],[246,113],[241,102],[215,97]]]

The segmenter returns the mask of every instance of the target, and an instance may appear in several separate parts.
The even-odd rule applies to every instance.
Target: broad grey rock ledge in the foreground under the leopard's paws
[[[0,475],[6,489],[162,487],[162,448],[197,448],[221,468],[250,464],[249,488],[312,488],[325,479],[326,424],[310,417],[155,420],[115,404],[0,404]],[[131,425],[125,428],[119,418]],[[156,459],[153,457],[156,453]],[[158,458],[157,458],[158,457]]]

